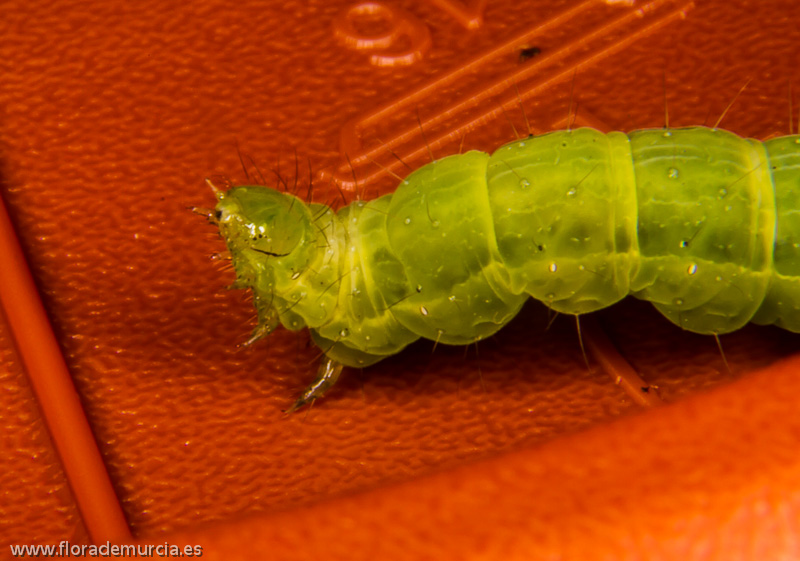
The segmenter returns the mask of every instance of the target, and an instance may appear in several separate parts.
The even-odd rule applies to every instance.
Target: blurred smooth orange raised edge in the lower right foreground
[[[763,387],[796,389],[798,368],[781,363],[538,449],[173,539],[225,559],[248,559],[241,543],[269,559],[797,559],[800,419],[791,400],[765,402]],[[773,432],[776,419],[785,422]]]

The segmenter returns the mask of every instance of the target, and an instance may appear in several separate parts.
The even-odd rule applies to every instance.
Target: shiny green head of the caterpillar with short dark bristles
[[[290,309],[287,287],[308,268],[315,236],[308,207],[293,195],[260,186],[216,191],[217,206],[208,217],[219,226],[231,255],[236,282],[251,288],[258,327],[251,343],[269,334]]]

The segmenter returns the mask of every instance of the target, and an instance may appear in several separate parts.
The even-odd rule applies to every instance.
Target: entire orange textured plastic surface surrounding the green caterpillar
[[[239,152],[252,181],[371,198],[408,171],[392,152],[492,150],[509,123],[713,125],[745,83],[721,126],[786,134],[795,2],[2,11],[4,554],[131,536],[210,559],[800,558],[797,335],[722,337],[729,371],[646,303],[596,314],[587,347],[613,344],[666,402],[648,408],[532,303],[477,352],[413,345],[284,418],[318,350],[283,330],[237,348],[252,306],[188,210],[214,204],[207,176],[247,181]]]

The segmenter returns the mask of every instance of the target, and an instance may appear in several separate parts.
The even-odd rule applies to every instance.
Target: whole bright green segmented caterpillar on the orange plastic
[[[581,128],[432,162],[338,212],[260,186],[217,197],[258,311],[249,342],[309,327],[325,354],[290,411],[419,337],[488,337],[529,296],[579,315],[631,294],[697,333],[800,332],[800,135]]]

